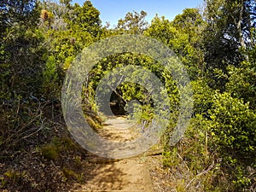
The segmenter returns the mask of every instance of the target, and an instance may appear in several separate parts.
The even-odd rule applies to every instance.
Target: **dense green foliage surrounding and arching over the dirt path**
[[[62,83],[85,47],[129,33],[160,41],[183,62],[194,92],[189,128],[170,146],[168,133],[180,104],[176,81],[158,61],[135,53],[109,55],[84,78],[81,95],[88,123],[98,131],[108,116],[98,112],[95,102],[102,77],[116,67],[143,67],[165,84],[174,114],[162,138],[163,166],[193,178],[177,179],[177,191],[255,191],[255,8],[254,0],[205,0],[202,9],[184,9],[174,20],[156,15],[148,23],[141,11],[127,13],[110,27],[102,24],[90,1],[1,1],[0,189],[67,191],[71,183],[82,183],[80,167],[90,153],[67,131]],[[109,105],[115,115],[127,115],[127,103],[134,100],[134,108],[139,107],[134,118],[149,123],[154,102],[140,84],[120,84]]]

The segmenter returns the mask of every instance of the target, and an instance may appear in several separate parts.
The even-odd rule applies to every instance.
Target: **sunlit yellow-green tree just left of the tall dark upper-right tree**
[[[197,15],[198,11],[197,14],[193,13],[193,16],[189,15],[189,13],[189,10],[184,10],[183,15],[178,15],[172,22],[166,20],[165,17],[160,18],[156,16],[144,34],[150,38],[156,38],[172,49],[183,62],[184,66],[187,67],[190,79],[196,79],[204,71],[201,38],[200,34],[196,33],[196,31],[200,31],[201,24],[199,23],[202,20],[197,20],[197,17],[199,17]],[[194,20],[197,20],[195,23],[198,26],[189,24],[189,20],[192,17]],[[193,31],[193,29],[195,29],[195,32],[190,31]]]

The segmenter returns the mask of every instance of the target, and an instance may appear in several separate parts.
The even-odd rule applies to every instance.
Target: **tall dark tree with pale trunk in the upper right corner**
[[[208,75],[214,79],[211,86],[224,90],[227,81],[216,77],[214,70],[227,74],[227,66],[238,66],[247,57],[241,54],[240,49],[251,44],[255,1],[206,0],[206,3],[205,61]]]

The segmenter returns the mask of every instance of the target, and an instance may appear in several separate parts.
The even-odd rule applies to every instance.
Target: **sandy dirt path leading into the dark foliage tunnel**
[[[100,133],[113,142],[129,141],[138,134],[135,124],[125,117],[108,119]],[[85,176],[86,183],[75,191],[154,191],[148,167],[141,157],[116,162],[96,159],[94,162],[90,176]]]

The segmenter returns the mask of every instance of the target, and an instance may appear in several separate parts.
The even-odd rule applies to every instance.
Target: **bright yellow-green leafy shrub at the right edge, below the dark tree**
[[[236,154],[255,153],[256,113],[229,93],[216,94],[210,112],[212,137],[220,148]]]

